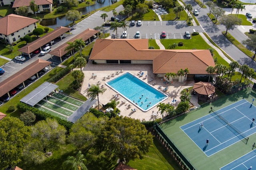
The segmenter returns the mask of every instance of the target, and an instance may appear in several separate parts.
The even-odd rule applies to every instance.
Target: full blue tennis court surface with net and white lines
[[[240,140],[247,143],[245,138],[256,132],[253,117],[256,118],[255,106],[242,99],[217,111],[213,108],[208,115],[180,128],[207,156],[211,156]],[[200,126],[202,122],[203,127]],[[209,139],[208,145],[206,139]]]

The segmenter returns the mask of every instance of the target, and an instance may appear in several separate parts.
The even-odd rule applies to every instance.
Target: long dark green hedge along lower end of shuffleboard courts
[[[34,113],[36,115],[37,121],[46,120],[47,117],[49,117],[50,119],[55,119],[60,125],[63,125],[67,131],[69,131],[69,129],[73,125],[73,123],[71,123],[70,121],[66,121],[64,119],[61,119],[60,117],[56,117],[54,115],[51,115],[44,111],[41,111],[41,110],[37,109],[36,107],[30,107],[27,104],[24,104],[22,102],[17,104],[17,108],[22,113],[24,113],[26,111],[31,111],[32,113]]]

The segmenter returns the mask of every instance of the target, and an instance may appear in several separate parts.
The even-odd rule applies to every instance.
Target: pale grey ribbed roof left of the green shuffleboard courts
[[[40,100],[46,98],[52,91],[58,88],[58,85],[52,84],[50,82],[44,82],[38,88],[30,92],[24,98],[20,99],[20,102],[28,104],[29,106],[34,107]]]

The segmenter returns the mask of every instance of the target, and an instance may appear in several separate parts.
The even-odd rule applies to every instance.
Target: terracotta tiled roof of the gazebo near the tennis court
[[[193,90],[195,90],[198,94],[207,96],[215,93],[215,87],[208,82],[195,83],[193,86]]]

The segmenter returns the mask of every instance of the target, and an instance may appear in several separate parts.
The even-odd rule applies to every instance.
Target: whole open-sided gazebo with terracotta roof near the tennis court
[[[215,87],[208,82],[198,82],[193,86],[193,94],[194,92],[198,93],[199,101],[209,101],[212,100],[215,93]]]

